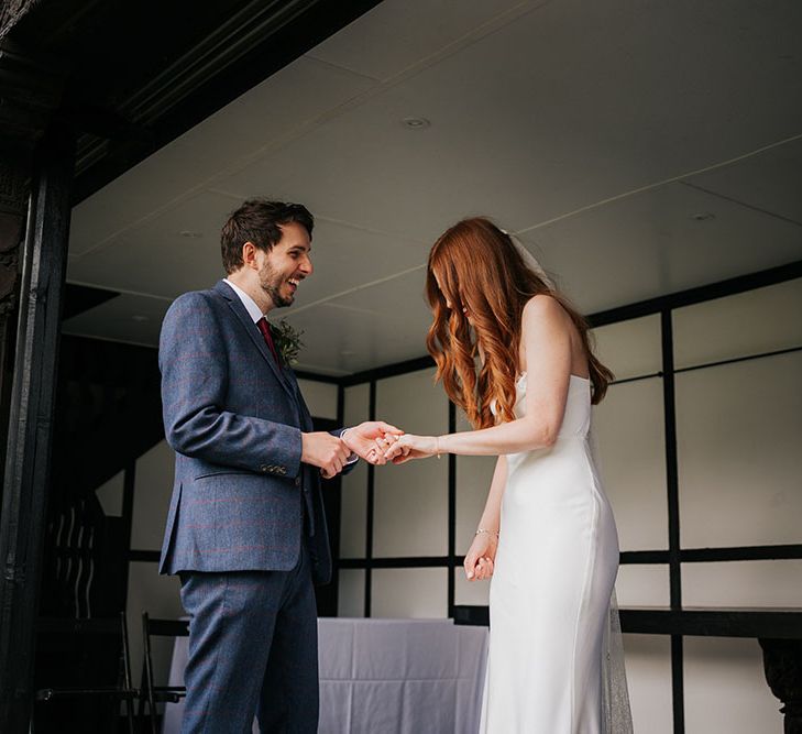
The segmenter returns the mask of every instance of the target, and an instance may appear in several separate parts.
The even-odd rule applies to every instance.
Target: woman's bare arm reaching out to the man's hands
[[[535,296],[524,308],[521,335],[527,365],[526,416],[493,428],[447,436],[403,436],[387,459],[435,453],[486,456],[547,448],[560,432],[571,374],[572,322],[549,296]],[[406,449],[406,450],[405,450]]]

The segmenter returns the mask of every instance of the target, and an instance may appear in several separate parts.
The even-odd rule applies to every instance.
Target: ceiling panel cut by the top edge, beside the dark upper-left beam
[[[410,11],[408,0],[385,0],[308,56],[386,80],[545,1],[428,0]]]

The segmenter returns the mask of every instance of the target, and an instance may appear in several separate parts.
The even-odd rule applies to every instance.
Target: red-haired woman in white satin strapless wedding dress
[[[591,404],[613,374],[584,319],[487,219],[438,239],[426,291],[437,379],[475,430],[382,448],[395,463],[498,456],[464,560],[468,579],[493,577],[481,731],[630,731],[625,680],[613,701],[603,686],[618,539],[589,446]]]

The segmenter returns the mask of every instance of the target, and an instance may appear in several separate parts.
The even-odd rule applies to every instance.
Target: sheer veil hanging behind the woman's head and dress
[[[537,274],[549,288],[554,288],[554,282],[537,258],[524,247],[517,237],[505,230],[502,231],[509,238],[527,267]],[[589,442],[596,472],[601,474],[598,441],[592,420]],[[609,596],[609,611],[602,644],[602,727],[603,734],[633,734],[633,716],[624,665],[624,640],[615,589]]]

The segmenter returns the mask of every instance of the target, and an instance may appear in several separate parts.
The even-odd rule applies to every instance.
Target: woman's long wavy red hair
[[[431,248],[426,295],[435,320],[426,346],[437,362],[437,380],[442,380],[446,393],[465,412],[474,428],[515,418],[524,306],[540,294],[554,298],[576,327],[587,357],[592,402],[598,403],[613,373],[593,354],[587,322],[564,296],[526,265],[505,232],[484,217],[463,219]],[[480,343],[484,357],[481,364]],[[497,418],[491,413],[493,401]]]

